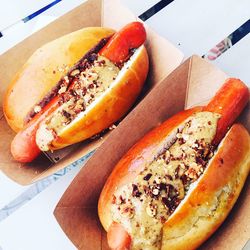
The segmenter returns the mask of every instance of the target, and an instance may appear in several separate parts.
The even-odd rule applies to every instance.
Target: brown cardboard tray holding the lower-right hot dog
[[[119,159],[148,131],[168,117],[184,108],[207,102],[226,78],[224,72],[198,56],[187,59],[161,81],[97,149],[54,211],[60,226],[77,249],[108,249],[106,233],[97,215],[97,202],[107,177]],[[242,122],[248,129],[249,116],[248,107],[242,115]],[[226,223],[202,249],[242,249],[250,233],[247,221],[250,216],[249,195],[248,182]]]

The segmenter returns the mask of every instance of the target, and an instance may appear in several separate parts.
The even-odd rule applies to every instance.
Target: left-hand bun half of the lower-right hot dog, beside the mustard
[[[108,231],[108,228],[113,222],[111,213],[107,211],[110,211],[112,194],[116,188],[133,180],[144,169],[145,165],[154,159],[155,152],[157,152],[159,148],[162,148],[166,138],[171,137],[171,134],[176,128],[189,116],[201,111],[201,109],[201,107],[196,107],[174,115],[144,136],[119,161],[109,176],[98,203],[99,218],[106,231]],[[152,148],[154,150],[152,150]]]

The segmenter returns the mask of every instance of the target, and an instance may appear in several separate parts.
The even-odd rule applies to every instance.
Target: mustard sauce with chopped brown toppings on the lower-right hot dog
[[[131,249],[161,248],[162,225],[204,172],[213,155],[212,140],[220,115],[199,112],[176,131],[173,144],[129,184],[113,195],[113,221],[131,235]]]

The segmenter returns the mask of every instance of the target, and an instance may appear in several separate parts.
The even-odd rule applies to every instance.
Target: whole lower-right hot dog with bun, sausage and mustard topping
[[[250,168],[237,116],[248,88],[227,80],[205,107],[182,111],[118,162],[99,198],[111,249],[196,249],[224,221]]]

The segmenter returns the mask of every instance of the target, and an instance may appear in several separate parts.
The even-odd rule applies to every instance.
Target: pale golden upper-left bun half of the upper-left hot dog
[[[10,127],[18,132],[24,118],[72,67],[102,38],[114,31],[102,27],[84,28],[39,48],[16,74],[4,98],[3,109]]]

